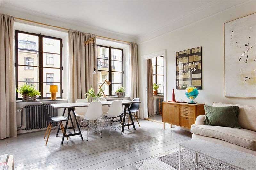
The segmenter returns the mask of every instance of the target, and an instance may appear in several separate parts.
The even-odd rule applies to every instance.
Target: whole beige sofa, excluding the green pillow
[[[241,129],[203,125],[205,115],[200,115],[191,125],[192,139],[203,139],[256,155],[256,107],[217,102],[212,106],[239,106],[238,122]]]

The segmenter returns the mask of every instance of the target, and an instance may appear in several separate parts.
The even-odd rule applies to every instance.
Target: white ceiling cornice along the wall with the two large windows
[[[3,0],[0,0],[0,2],[1,1],[3,1]],[[107,29],[102,29],[102,28],[99,28],[97,26],[92,26],[92,25],[86,24],[85,22],[81,22],[81,21],[74,21],[74,20],[70,20],[70,19],[66,19],[66,18],[61,18],[61,17],[57,17],[57,16],[53,16],[53,15],[48,15],[48,14],[45,14],[45,13],[42,13],[42,12],[28,10],[26,8],[21,8],[21,7],[15,6],[13,4],[5,4],[4,1],[2,3],[1,8],[6,8],[6,9],[9,9],[9,10],[15,10],[15,11],[18,11],[18,12],[26,13],[28,15],[33,15],[33,16],[43,18],[43,19],[62,22],[62,23],[65,23],[65,24],[73,24],[73,25],[76,25],[76,26],[79,26],[79,27],[83,27],[85,29],[100,31],[100,32],[103,32],[103,33],[110,33],[110,34],[114,34],[114,35],[117,35],[117,36],[123,36],[123,37],[126,37],[126,38],[136,40],[136,36],[133,36],[133,35],[128,35],[128,34],[119,33],[119,32],[115,32],[115,31],[111,31],[111,30],[107,30]],[[23,10],[30,11],[30,12],[24,12]],[[35,15],[35,13],[39,13],[41,15]]]

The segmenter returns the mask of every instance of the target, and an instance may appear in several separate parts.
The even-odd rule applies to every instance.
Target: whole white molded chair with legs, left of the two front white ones
[[[102,116],[102,105],[101,102],[92,102],[88,105],[86,113],[84,117],[82,118],[82,122],[87,123],[87,141],[89,138],[89,130],[93,130],[93,132],[98,132],[101,136],[100,129],[98,129],[98,120]],[[84,130],[84,127],[83,127]]]

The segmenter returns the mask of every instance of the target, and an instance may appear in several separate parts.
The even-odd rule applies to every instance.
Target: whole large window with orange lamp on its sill
[[[33,84],[41,92],[39,98],[47,99],[49,85],[57,85],[57,98],[61,98],[62,39],[16,30],[15,50],[16,86]],[[17,100],[21,97],[16,93]]]

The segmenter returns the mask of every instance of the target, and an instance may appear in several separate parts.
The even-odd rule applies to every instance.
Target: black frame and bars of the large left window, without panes
[[[38,83],[38,90],[39,92],[41,92],[41,96],[38,97],[38,99],[51,99],[51,97],[43,97],[44,95],[44,91],[43,91],[43,86],[44,83],[46,84],[47,82],[43,81],[43,68],[51,68],[51,69],[60,69],[60,82],[51,82],[51,83],[60,83],[60,96],[57,98],[62,98],[63,96],[63,88],[62,88],[62,71],[63,71],[63,67],[62,67],[62,39],[61,38],[57,38],[57,37],[51,37],[51,36],[47,36],[47,35],[42,35],[42,34],[36,34],[36,33],[29,33],[29,32],[25,32],[25,31],[19,31],[19,30],[15,30],[15,81],[16,81],[16,87],[19,85],[19,83],[27,83],[26,81],[18,81],[19,78],[19,69],[18,66],[27,66],[27,65],[22,65],[19,64],[18,59],[18,33],[24,33],[24,34],[29,34],[29,35],[34,35],[34,36],[38,36],[38,66],[31,66],[31,67],[37,67],[38,68],[38,82],[33,81],[33,82],[29,82],[29,83]],[[43,38],[50,38],[50,39],[56,39],[56,40],[60,40],[60,67],[47,67],[47,66],[43,66],[43,53],[50,53],[50,54],[57,54],[57,53],[51,53],[51,52],[44,52],[43,51]],[[24,50],[24,49],[21,49]],[[24,50],[24,51],[29,51],[29,50]],[[45,61],[46,63],[46,61]],[[30,67],[30,66],[29,66]],[[18,92],[16,92],[16,100],[21,100],[22,98],[18,97]]]

